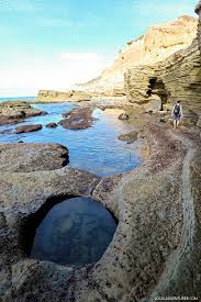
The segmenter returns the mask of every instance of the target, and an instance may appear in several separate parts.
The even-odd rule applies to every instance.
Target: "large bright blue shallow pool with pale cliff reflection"
[[[111,176],[129,171],[139,165],[141,159],[136,155],[136,144],[126,144],[118,139],[118,136],[131,131],[129,123],[120,121],[122,113],[119,109],[93,111],[98,119],[92,127],[81,131],[66,130],[58,125],[56,128],[47,128],[51,122],[58,123],[62,113],[76,107],[74,103],[34,104],[35,108],[48,112],[47,115],[35,116],[18,124],[42,124],[37,132],[14,134],[16,125],[0,126],[0,143],[58,143],[69,150],[69,166],[93,172],[99,176]]]

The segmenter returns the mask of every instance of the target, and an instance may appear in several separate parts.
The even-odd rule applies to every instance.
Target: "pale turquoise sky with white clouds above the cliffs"
[[[0,97],[96,78],[150,25],[194,15],[197,0],[0,0]]]

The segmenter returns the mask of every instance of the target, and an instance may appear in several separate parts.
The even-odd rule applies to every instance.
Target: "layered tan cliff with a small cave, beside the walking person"
[[[138,104],[148,102],[155,96],[163,103],[181,101],[186,118],[198,121],[201,115],[201,55],[198,38],[161,63],[129,69],[125,90],[129,101]]]

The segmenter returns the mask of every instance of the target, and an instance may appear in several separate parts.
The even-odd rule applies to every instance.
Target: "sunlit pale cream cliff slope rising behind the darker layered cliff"
[[[124,91],[124,72],[127,68],[164,60],[175,52],[186,48],[196,37],[198,21],[180,16],[176,21],[152,26],[144,36],[127,43],[112,66],[102,75],[75,89],[115,94]]]

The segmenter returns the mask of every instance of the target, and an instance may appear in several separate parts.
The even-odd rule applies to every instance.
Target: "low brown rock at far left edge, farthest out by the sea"
[[[3,102],[0,103],[0,125],[18,124],[24,119],[37,115],[45,115],[46,112],[32,108],[26,102]]]

